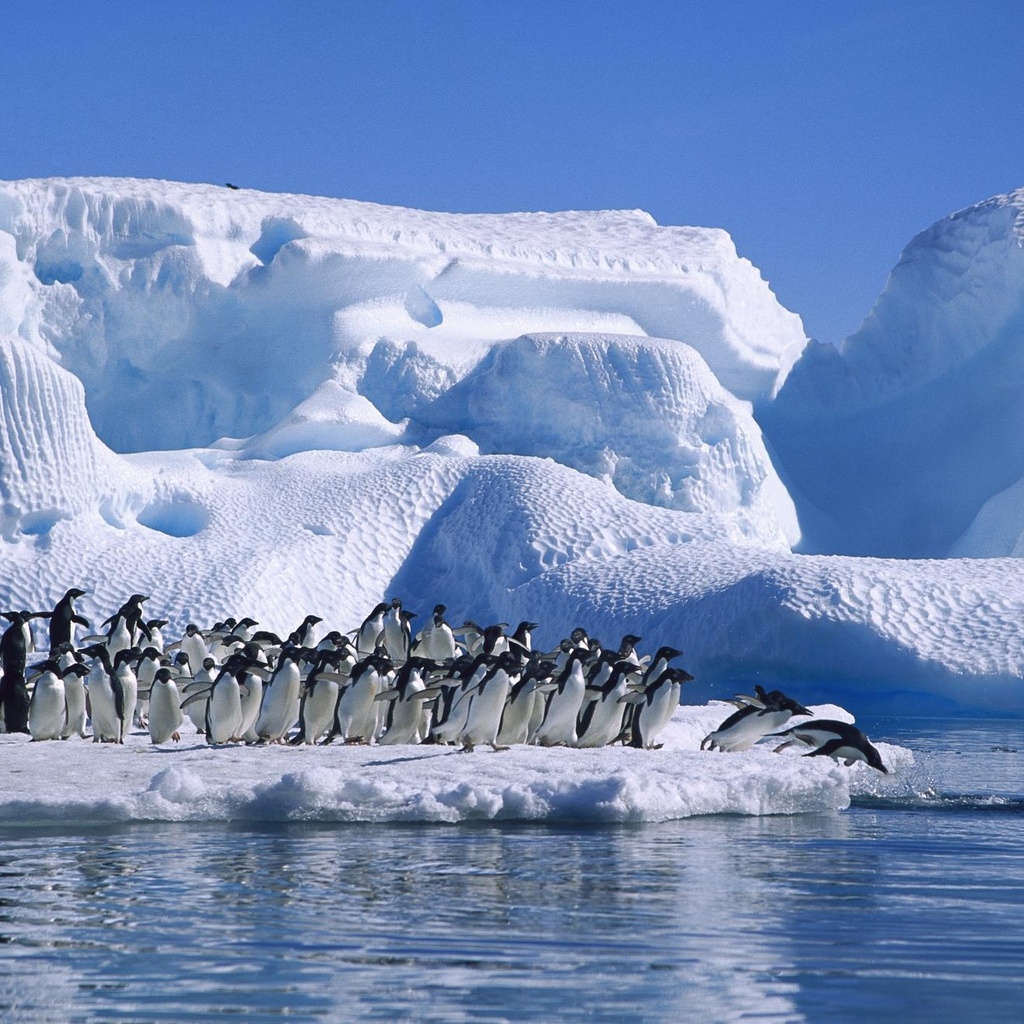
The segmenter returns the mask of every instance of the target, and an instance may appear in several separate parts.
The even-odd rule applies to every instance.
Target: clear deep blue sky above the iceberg
[[[0,178],[730,232],[810,335],[1024,186],[1019,0],[4,0]]]

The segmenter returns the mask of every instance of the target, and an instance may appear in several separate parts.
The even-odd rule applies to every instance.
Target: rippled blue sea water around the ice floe
[[[7,827],[0,1020],[1024,1019],[1024,722],[862,725],[835,814]]]

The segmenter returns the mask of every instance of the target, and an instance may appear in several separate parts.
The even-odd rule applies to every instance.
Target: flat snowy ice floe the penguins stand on
[[[438,746],[209,748],[187,733],[154,746],[0,736],[0,824],[62,827],[136,821],[489,820],[668,821],[700,814],[843,810],[852,795],[906,786],[909,751],[880,753],[892,776],[863,764],[773,754],[699,751],[735,709],[680,708],[659,751],[516,746],[460,755]],[[811,708],[845,718],[842,709]],[[187,729],[187,726],[185,727]],[[15,767],[16,766],[16,767]]]

